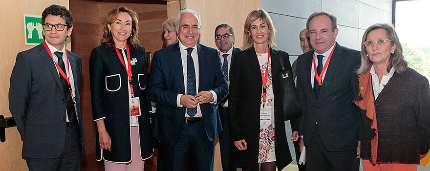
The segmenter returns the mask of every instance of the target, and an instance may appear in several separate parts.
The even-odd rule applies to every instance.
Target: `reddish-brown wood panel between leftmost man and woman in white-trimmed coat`
[[[100,45],[99,4],[88,0],[70,0],[70,11],[74,19],[71,35],[72,52],[82,58],[81,110],[86,142],[86,156],[83,157],[82,170],[103,171],[103,162],[95,160],[97,129],[92,119],[88,67],[91,50]]]

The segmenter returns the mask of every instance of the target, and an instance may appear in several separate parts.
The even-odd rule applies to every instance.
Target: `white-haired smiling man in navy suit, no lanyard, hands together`
[[[154,53],[149,79],[151,101],[157,103],[153,136],[165,145],[157,166],[162,171],[192,167],[212,171],[215,137],[221,132],[218,101],[228,85],[216,49],[197,43],[200,16],[184,9],[178,14],[179,43]]]

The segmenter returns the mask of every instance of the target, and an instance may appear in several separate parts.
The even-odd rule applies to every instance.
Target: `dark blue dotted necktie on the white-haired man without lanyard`
[[[195,96],[195,70],[194,70],[194,61],[193,57],[191,57],[191,52],[193,52],[193,48],[187,48],[187,94]],[[187,108],[187,113],[190,117],[194,117],[197,114],[196,108]]]

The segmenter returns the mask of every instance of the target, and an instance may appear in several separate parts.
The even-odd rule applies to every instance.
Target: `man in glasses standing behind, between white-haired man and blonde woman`
[[[215,44],[218,47],[218,56],[221,59],[222,70],[227,79],[228,85],[229,72],[231,62],[236,53],[242,51],[239,48],[233,47],[235,43],[235,34],[233,28],[229,24],[219,24],[215,28]],[[221,163],[223,171],[236,171],[236,168],[230,167],[230,129],[228,119],[228,97],[221,101],[218,105],[219,116],[221,117],[222,131],[218,134],[219,148],[221,151]]]

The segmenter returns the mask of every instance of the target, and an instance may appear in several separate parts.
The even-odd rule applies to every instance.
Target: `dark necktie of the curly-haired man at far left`
[[[54,52],[55,56],[58,57],[57,64],[61,67],[61,70],[63,70],[64,74],[65,72],[65,66],[63,62],[63,52]],[[72,100],[72,95],[70,94],[71,87],[67,83],[67,81],[61,76],[60,74],[60,81],[61,85],[63,85],[63,92],[64,92],[64,103],[66,104],[67,109],[67,115],[69,117],[70,124],[74,125],[76,122],[76,111],[75,111],[75,103]]]

